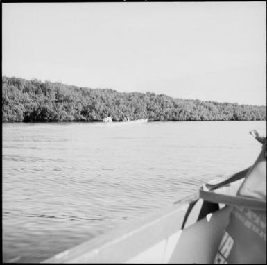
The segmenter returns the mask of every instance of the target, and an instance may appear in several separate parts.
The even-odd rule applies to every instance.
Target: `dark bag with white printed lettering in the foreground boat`
[[[232,206],[214,263],[266,264],[266,140],[253,166],[216,185],[203,185],[200,198]]]

